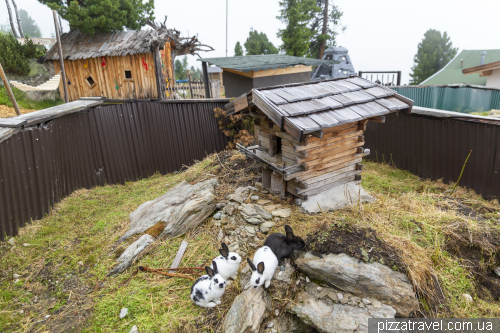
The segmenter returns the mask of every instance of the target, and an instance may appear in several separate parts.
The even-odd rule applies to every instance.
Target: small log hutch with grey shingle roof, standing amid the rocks
[[[238,149],[261,162],[272,193],[307,200],[361,182],[368,121],[410,113],[413,101],[360,77],[253,89],[225,106],[255,118],[256,145]]]

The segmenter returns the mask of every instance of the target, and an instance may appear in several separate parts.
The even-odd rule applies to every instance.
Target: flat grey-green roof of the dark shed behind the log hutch
[[[232,69],[240,72],[287,68],[296,65],[319,66],[323,64],[331,65],[338,63],[333,60],[309,59],[282,54],[202,58],[198,60],[208,62],[221,68]]]

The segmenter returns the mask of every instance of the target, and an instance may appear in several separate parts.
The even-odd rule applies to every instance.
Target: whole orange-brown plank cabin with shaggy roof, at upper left
[[[64,34],[61,44],[67,77],[63,80],[68,82],[69,100],[101,96],[108,99],[160,98],[162,86],[159,81],[175,80],[173,45],[170,41],[165,42],[157,55],[149,44],[149,34],[150,30],[95,35],[73,30]],[[53,61],[55,72],[60,72],[57,44],[47,52],[44,61]],[[161,72],[156,72],[155,62],[161,64]],[[62,81],[59,92],[64,96]]]

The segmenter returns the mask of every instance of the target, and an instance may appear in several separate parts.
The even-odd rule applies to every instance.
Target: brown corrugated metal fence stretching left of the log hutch
[[[221,151],[219,102],[131,102],[72,113],[0,142],[0,239],[80,188],[166,174]]]

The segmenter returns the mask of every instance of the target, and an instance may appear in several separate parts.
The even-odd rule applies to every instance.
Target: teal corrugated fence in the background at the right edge
[[[404,86],[391,89],[412,99],[415,105],[431,109],[464,113],[500,109],[500,90],[432,86]]]

